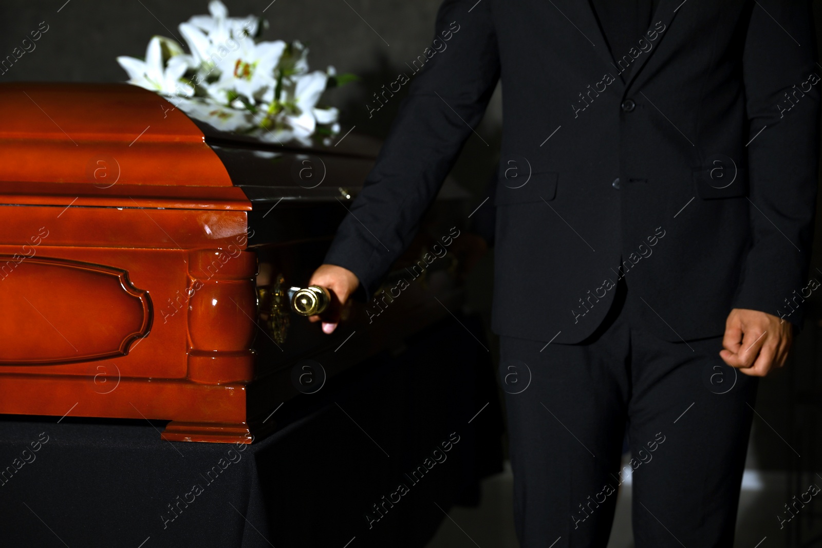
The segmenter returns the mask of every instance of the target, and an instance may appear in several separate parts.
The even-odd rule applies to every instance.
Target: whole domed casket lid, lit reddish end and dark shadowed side
[[[127,84],[0,84],[0,119],[0,203],[16,205],[250,210],[251,201],[333,200],[356,194],[381,145],[350,131],[329,146],[264,143]],[[333,185],[295,176],[309,157],[317,180],[333,171]]]

